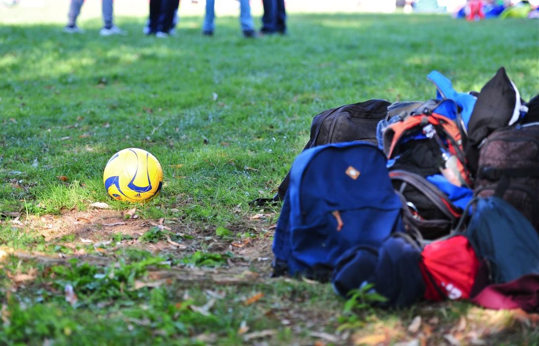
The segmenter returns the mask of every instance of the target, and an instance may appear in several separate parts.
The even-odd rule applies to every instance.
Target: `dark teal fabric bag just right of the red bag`
[[[505,200],[479,198],[466,234],[478,256],[489,261],[493,283],[539,274],[539,236]]]

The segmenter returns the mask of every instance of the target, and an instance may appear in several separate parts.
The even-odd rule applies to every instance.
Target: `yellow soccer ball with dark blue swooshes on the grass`
[[[103,183],[110,197],[128,202],[147,202],[163,186],[163,169],[146,150],[128,148],[108,160]]]

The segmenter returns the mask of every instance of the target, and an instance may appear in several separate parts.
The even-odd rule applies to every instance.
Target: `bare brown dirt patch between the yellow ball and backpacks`
[[[186,254],[197,250],[215,253],[230,252],[234,255],[229,260],[231,268],[254,268],[265,276],[271,273],[271,259],[273,258],[271,247],[275,225],[271,225],[264,214],[257,214],[253,218],[228,226],[233,235],[247,232],[251,236],[229,237],[227,240],[217,237],[215,229],[208,226],[197,228],[178,219],[141,219],[136,213],[129,214],[106,209],[65,211],[60,215],[29,216],[25,220],[17,217],[5,222],[10,222],[22,230],[35,231],[42,235],[46,242],[60,241],[62,245],[73,250],[77,245],[92,244],[94,248],[98,248],[97,250],[103,257],[109,257],[115,250],[125,246],[141,248],[156,254],[169,254],[175,258],[183,258]],[[177,234],[179,238],[185,238],[181,241],[162,240],[157,243],[141,243],[136,240],[144,232],[156,226],[167,230],[170,234]],[[117,233],[129,236],[133,240],[114,243],[111,239]],[[74,237],[72,241],[65,241],[65,236]],[[86,252],[80,249],[74,253],[86,255]]]

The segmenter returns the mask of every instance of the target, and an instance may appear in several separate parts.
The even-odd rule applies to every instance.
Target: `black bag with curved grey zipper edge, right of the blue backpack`
[[[403,170],[389,172],[393,188],[404,207],[404,225],[410,234],[432,240],[450,234],[457,226],[462,209],[424,177]]]

